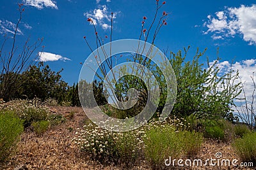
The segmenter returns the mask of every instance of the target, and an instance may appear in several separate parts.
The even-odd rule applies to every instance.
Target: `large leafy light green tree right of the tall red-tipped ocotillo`
[[[240,83],[236,83],[238,72],[234,73],[231,69],[227,73],[220,73],[217,65],[219,57],[212,65],[208,61],[208,68],[200,64],[199,59],[206,49],[202,53],[197,50],[193,60],[185,62],[188,49],[184,48],[183,56],[181,51],[170,54],[177,78],[177,98],[172,115],[234,121],[232,106],[234,99],[241,93]]]

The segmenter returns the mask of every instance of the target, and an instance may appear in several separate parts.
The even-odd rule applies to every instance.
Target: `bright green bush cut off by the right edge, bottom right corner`
[[[242,162],[253,162],[256,165],[256,132],[244,134],[242,138],[236,139],[233,147]]]

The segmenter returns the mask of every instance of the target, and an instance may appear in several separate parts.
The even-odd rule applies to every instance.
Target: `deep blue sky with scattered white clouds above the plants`
[[[80,62],[90,55],[83,36],[95,49],[95,32],[87,22],[88,17],[95,20],[99,35],[104,37],[110,34],[109,15],[113,12],[113,40],[137,39],[143,16],[147,17],[147,29],[156,8],[156,0],[3,0],[1,42],[6,33],[12,37],[19,18],[19,3],[24,4],[24,13],[17,37],[18,48],[28,36],[31,42],[44,37],[45,48],[40,60],[54,71],[63,68],[63,80],[70,85],[79,78]],[[163,1],[159,1],[161,3]],[[229,67],[234,60],[235,69],[241,70],[243,80],[250,81],[249,75],[256,71],[256,1],[166,1],[160,15],[163,11],[168,13],[168,19],[157,35],[157,47],[177,52],[190,45],[188,60],[192,59],[196,48],[200,51],[208,48],[205,57],[214,60],[219,47],[220,66]],[[205,57],[202,62],[206,61]]]

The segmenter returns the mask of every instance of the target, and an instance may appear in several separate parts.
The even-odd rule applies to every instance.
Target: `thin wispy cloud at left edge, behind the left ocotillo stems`
[[[0,34],[15,34],[15,29],[16,24],[13,24],[8,20],[0,20]],[[17,29],[17,34],[23,35],[19,28]]]

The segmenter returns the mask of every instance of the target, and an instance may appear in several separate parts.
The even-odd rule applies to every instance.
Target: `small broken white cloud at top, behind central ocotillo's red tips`
[[[116,12],[113,13],[113,19],[116,18]],[[89,11],[84,13],[84,16],[87,18],[91,18],[93,20],[93,24],[100,25],[102,29],[110,29],[111,25],[108,24],[111,22],[111,12],[108,11],[106,5],[99,6],[95,8],[93,11]]]

